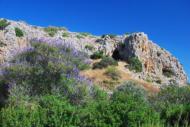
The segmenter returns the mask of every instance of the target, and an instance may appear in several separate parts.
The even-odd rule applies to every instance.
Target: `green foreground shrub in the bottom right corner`
[[[160,112],[161,118],[171,126],[190,124],[190,87],[163,87],[158,95],[150,99],[153,107]]]

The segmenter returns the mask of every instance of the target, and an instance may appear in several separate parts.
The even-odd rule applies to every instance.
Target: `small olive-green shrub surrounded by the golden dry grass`
[[[112,78],[113,80],[118,80],[121,77],[120,72],[113,66],[110,66],[106,69],[105,75]]]

